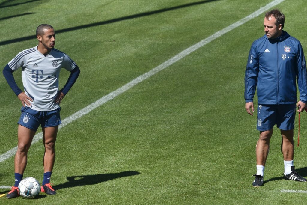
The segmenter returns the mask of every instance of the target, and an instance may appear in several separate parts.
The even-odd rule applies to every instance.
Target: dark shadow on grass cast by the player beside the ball
[[[84,186],[84,185],[91,185],[91,184],[98,184],[101,182],[113,180],[116,178],[126,177],[126,176],[134,176],[138,175],[140,172],[136,171],[125,171],[119,173],[109,173],[109,174],[94,174],[94,175],[82,175],[82,176],[68,176],[68,182],[64,184],[59,184],[53,186],[55,190],[64,189],[64,188],[71,188],[77,186]]]

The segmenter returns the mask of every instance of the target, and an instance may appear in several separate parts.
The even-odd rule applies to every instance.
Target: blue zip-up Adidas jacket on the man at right
[[[256,87],[258,104],[278,105],[307,102],[306,62],[301,43],[287,32],[275,39],[266,35],[251,45],[245,70],[245,102],[253,102]]]

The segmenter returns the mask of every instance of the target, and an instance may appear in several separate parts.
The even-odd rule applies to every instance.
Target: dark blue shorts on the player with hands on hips
[[[40,125],[41,127],[54,127],[62,124],[60,110],[60,107],[51,111],[37,111],[29,107],[22,107],[21,116],[17,123],[34,131],[37,131]]]

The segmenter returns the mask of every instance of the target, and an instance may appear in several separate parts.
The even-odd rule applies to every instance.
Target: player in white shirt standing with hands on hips
[[[15,155],[15,184],[7,198],[19,196],[18,184],[27,165],[27,153],[39,125],[43,131],[45,154],[44,177],[41,191],[54,195],[50,177],[55,161],[55,142],[61,124],[60,103],[76,82],[80,69],[65,53],[54,48],[55,32],[51,25],[42,24],[36,29],[38,45],[21,51],[3,69],[6,81],[22,103],[18,121],[18,148]],[[22,69],[24,92],[17,86],[13,72]],[[59,90],[60,69],[70,72],[67,83]]]

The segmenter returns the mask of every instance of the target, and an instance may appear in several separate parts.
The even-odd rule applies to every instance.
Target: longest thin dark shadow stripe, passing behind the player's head
[[[35,0],[35,1],[37,1],[37,0]],[[199,2],[192,2],[192,3],[188,3],[188,4],[183,4],[183,5],[180,5],[180,6],[174,6],[174,7],[165,8],[165,9],[148,11],[148,12],[143,12],[143,13],[139,13],[139,14],[133,14],[133,15],[130,15],[130,16],[119,17],[119,18],[115,18],[115,19],[111,19],[111,20],[107,20],[107,21],[100,21],[100,22],[96,22],[96,23],[90,23],[90,24],[75,26],[75,27],[71,27],[71,28],[60,29],[60,30],[56,30],[55,32],[56,32],[56,34],[58,34],[58,33],[64,33],[64,32],[69,32],[69,31],[75,31],[75,30],[79,30],[79,29],[85,29],[85,28],[89,28],[89,27],[115,23],[115,22],[118,22],[118,21],[124,21],[124,20],[144,17],[144,16],[150,16],[150,15],[153,15],[153,14],[159,14],[159,13],[163,13],[163,12],[167,12],[167,11],[177,10],[177,9],[181,9],[181,8],[185,8],[185,7],[189,7],[189,6],[196,6],[196,5],[214,2],[214,1],[220,1],[220,0],[204,0],[204,1],[199,1]],[[32,1],[29,1],[29,2],[32,2]],[[0,41],[0,45],[6,45],[6,44],[21,42],[21,41],[27,41],[27,40],[31,40],[31,39],[34,39],[34,38],[36,38],[36,35],[31,35],[31,36],[26,36],[26,37],[21,37],[21,38],[15,38],[15,39],[7,40],[7,41]]]

